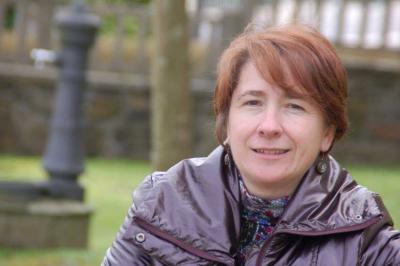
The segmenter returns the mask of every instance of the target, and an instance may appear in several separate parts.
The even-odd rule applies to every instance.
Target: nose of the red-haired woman
[[[269,108],[265,110],[264,114],[260,117],[257,127],[259,136],[276,138],[283,132],[282,119],[279,112],[275,109]]]

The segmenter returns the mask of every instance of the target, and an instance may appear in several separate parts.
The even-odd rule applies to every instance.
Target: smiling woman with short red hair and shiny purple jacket
[[[219,63],[221,147],[146,178],[104,265],[400,265],[379,196],[328,155],[346,97],[318,32],[246,30]]]

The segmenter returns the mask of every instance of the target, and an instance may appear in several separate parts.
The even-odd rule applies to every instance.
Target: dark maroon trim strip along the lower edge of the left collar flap
[[[139,217],[134,217],[133,218],[134,222],[137,223],[140,227],[142,227],[143,229],[145,229],[146,231],[150,232],[151,234],[166,240],[170,243],[173,243],[174,245],[180,247],[183,250],[186,250],[188,253],[193,254],[197,257],[209,260],[209,261],[214,261],[214,262],[219,262],[222,264],[226,264],[226,261],[223,261],[222,259],[219,259],[213,255],[210,255],[209,253],[198,249],[198,248],[194,248],[191,245],[188,245],[187,243],[171,236],[170,234],[160,230],[159,228],[149,224],[148,222],[146,222],[145,220],[139,218]]]

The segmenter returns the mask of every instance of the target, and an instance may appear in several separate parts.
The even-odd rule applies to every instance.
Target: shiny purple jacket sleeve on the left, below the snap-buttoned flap
[[[132,240],[124,239],[123,236],[132,223],[132,208],[129,209],[114,242],[107,250],[102,266],[153,266],[160,265],[145,254]]]

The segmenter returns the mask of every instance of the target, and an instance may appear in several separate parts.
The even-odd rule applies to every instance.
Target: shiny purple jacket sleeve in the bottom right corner
[[[400,265],[400,232],[382,227],[364,250],[360,265]]]

